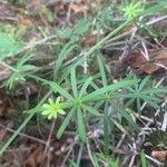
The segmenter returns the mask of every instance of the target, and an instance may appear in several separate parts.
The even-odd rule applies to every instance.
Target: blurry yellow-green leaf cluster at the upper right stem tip
[[[136,19],[139,14],[144,11],[144,7],[141,2],[131,2],[130,4],[126,6],[124,9],[125,16],[129,19]]]

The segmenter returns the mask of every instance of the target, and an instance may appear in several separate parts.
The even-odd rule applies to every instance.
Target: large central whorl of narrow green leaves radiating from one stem
[[[105,86],[102,88],[99,88],[92,92],[89,92],[87,95],[87,89],[92,80],[92,78],[88,78],[81,86],[81,88],[78,90],[77,87],[77,78],[76,78],[76,69],[71,69],[70,73],[70,80],[71,80],[71,89],[72,89],[72,96],[68,94],[63,88],[61,88],[56,82],[46,81],[47,85],[51,87],[51,89],[57,94],[59,92],[63,98],[67,98],[70,100],[69,102],[62,102],[61,109],[71,108],[68,112],[67,117],[65,118],[62,125],[60,126],[57,137],[60,138],[63,130],[69,124],[69,120],[76,115],[76,121],[78,127],[78,135],[81,140],[86,140],[86,129],[85,129],[85,120],[84,120],[84,114],[86,111],[99,116],[99,111],[94,107],[94,102],[96,101],[104,101],[105,99],[108,99],[108,96],[106,96],[107,92],[116,91],[117,89],[125,87],[127,85],[134,84],[135,80],[125,80],[121,82],[118,82],[116,85]],[[91,106],[89,106],[89,104]]]

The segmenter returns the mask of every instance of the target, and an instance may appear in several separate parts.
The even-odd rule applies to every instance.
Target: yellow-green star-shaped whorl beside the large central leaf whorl
[[[48,119],[51,118],[57,118],[58,114],[60,115],[65,115],[66,112],[63,111],[63,109],[61,108],[60,105],[60,97],[58,97],[56,99],[56,101],[53,101],[52,99],[48,100],[48,104],[43,104],[43,111],[41,112],[43,116],[47,116]]]

